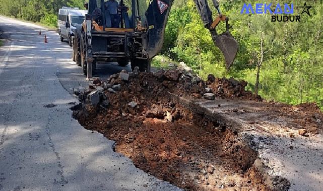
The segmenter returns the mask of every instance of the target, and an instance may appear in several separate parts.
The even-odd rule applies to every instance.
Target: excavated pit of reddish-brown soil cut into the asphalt
[[[78,105],[74,117],[86,129],[116,141],[115,151],[159,179],[189,190],[265,190],[263,175],[254,168],[257,152],[239,132],[220,125],[217,119],[187,110],[182,103],[146,114],[109,120],[115,111]],[[172,122],[161,111],[173,112]],[[121,114],[122,115],[122,114]]]

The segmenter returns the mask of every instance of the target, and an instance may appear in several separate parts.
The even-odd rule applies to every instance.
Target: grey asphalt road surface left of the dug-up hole
[[[0,17],[0,190],[173,190],[72,119],[68,92],[85,84],[56,32]],[[44,44],[44,35],[48,44]],[[120,71],[98,65],[100,77]],[[129,69],[129,67],[127,67]],[[45,107],[52,104],[54,107]]]

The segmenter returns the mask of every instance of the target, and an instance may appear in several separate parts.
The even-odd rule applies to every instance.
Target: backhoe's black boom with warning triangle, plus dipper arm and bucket
[[[229,18],[221,14],[217,0],[212,0],[219,14],[215,20],[213,20],[207,0],[194,0],[194,2],[204,26],[210,30],[214,44],[224,55],[226,68],[229,70],[238,52],[238,42],[229,32]],[[146,12],[147,26],[149,28],[147,32],[147,53],[150,58],[156,56],[162,49],[165,28],[172,3],[173,0],[152,0]],[[226,31],[219,35],[216,27],[221,21],[226,23]]]

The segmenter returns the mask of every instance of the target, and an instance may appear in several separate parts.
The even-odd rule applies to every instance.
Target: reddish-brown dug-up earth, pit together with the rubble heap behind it
[[[205,82],[176,70],[126,74],[94,79],[89,90],[76,90],[84,104],[73,108],[73,115],[81,125],[115,140],[116,151],[137,167],[181,188],[267,189],[262,175],[254,175],[256,151],[238,132],[187,110],[171,96],[202,98],[214,92],[210,87],[216,79]],[[242,91],[243,84],[223,84]],[[242,95],[239,91],[221,97]],[[93,104],[97,99],[99,104]]]

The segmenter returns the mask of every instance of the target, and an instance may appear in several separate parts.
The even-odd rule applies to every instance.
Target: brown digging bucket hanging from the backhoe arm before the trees
[[[214,43],[221,50],[226,69],[229,70],[238,52],[238,42],[226,31],[215,37]]]

